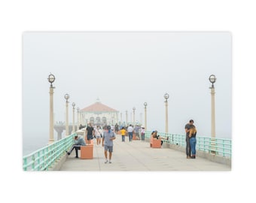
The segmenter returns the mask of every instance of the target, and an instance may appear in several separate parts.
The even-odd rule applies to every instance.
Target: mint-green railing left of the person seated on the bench
[[[48,171],[49,168],[62,156],[66,154],[73,144],[73,137],[76,134],[69,135],[47,147],[42,147],[29,155],[23,156],[24,171]]]

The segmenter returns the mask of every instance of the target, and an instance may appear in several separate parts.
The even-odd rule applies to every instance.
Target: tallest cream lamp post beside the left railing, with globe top
[[[55,80],[55,77],[53,74],[49,74],[48,81],[50,83],[50,128],[49,128],[49,144],[52,144],[54,142],[54,136],[53,136],[53,89],[55,88],[53,86],[53,82]]]

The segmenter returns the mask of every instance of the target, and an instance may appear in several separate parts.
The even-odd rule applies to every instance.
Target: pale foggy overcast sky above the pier
[[[99,97],[123,120],[135,107],[144,124],[147,102],[148,130],[164,132],[167,92],[169,133],[184,134],[194,119],[198,135],[210,136],[215,74],[216,136],[231,138],[231,38],[229,32],[24,32],[23,136],[38,126],[48,136],[50,73],[55,121],[65,121],[69,93],[70,122],[72,102],[81,109]]]

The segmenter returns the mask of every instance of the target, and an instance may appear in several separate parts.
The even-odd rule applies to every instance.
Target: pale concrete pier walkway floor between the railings
[[[80,150],[78,150],[78,156]],[[212,162],[197,156],[186,159],[185,152],[169,147],[151,148],[148,141],[114,140],[111,163],[105,164],[104,147],[93,147],[93,159],[76,159],[75,150],[59,171],[230,171],[230,165]]]

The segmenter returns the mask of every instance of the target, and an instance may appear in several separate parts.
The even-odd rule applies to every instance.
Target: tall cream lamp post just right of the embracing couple
[[[215,86],[214,83],[216,82],[217,78],[214,74],[211,74],[209,77],[209,81],[212,83],[211,95],[212,95],[212,129],[211,129],[211,145],[212,145],[212,153],[215,153]]]

